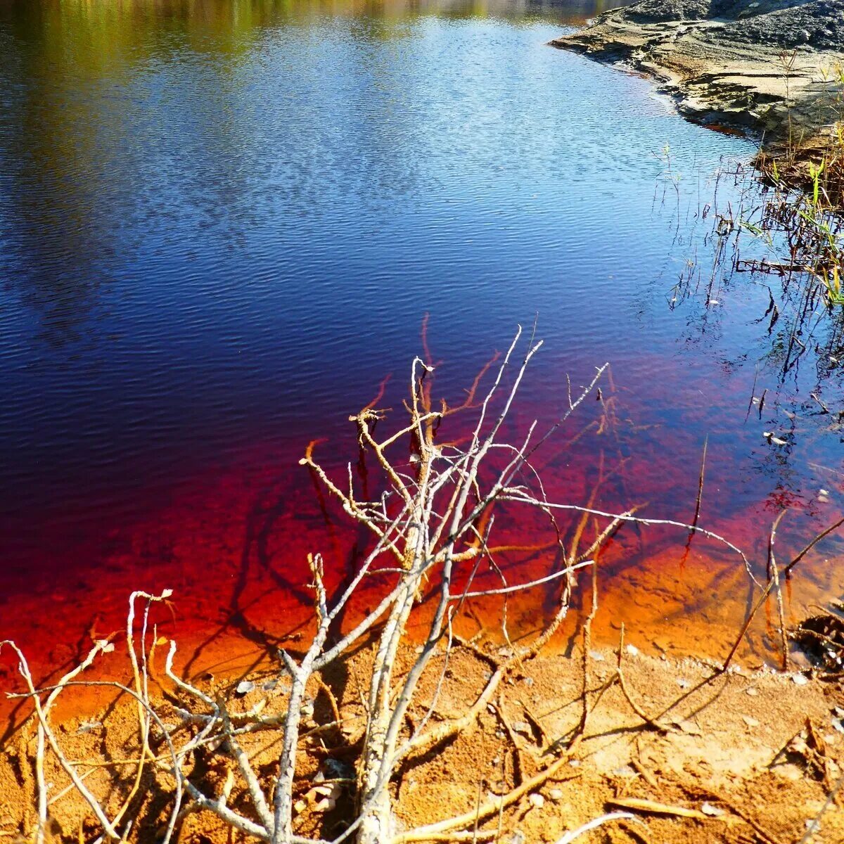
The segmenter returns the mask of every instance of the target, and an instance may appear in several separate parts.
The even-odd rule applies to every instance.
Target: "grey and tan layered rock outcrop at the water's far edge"
[[[551,43],[648,73],[692,119],[769,144],[820,141],[841,117],[844,0],[641,0]]]

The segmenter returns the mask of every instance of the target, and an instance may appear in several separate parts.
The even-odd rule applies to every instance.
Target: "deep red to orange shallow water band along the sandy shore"
[[[403,381],[390,381],[380,404],[400,408]],[[658,393],[663,387],[653,389]],[[622,511],[638,505],[645,517],[690,522],[701,465],[688,457],[679,459],[680,445],[685,448],[685,444],[672,441],[668,431],[648,427],[656,396],[642,389],[622,389],[611,374],[602,382],[601,396],[602,401],[587,398],[533,460],[549,500],[586,505],[597,485],[593,502],[597,509]],[[675,402],[682,405],[684,418],[711,413],[701,391],[688,384],[678,389]],[[528,389],[527,400],[517,403],[501,439],[518,441],[534,418],[543,419],[542,425],[553,421],[549,407],[532,404]],[[364,475],[357,464],[353,427],[327,425],[329,436],[318,443],[316,455],[340,481],[345,475],[341,461],[351,458],[355,482],[360,484]],[[706,454],[701,527],[743,549],[757,576],[764,579],[769,525],[783,505],[790,510],[777,538],[781,563],[836,509],[830,504],[807,506],[795,496],[776,492],[737,509],[731,489],[737,478],[735,466],[718,440],[717,425],[711,429],[715,436]],[[382,423],[383,430],[387,427]],[[441,436],[451,438],[460,430],[452,422]],[[322,431],[315,425],[313,433]],[[159,487],[136,491],[131,519],[113,517],[110,507],[119,511],[119,502],[104,505],[93,518],[84,511],[84,500],[78,502],[79,530],[73,544],[66,544],[61,555],[42,560],[42,565],[49,565],[49,576],[38,585],[25,570],[7,571],[3,578],[4,593],[14,596],[5,604],[3,626],[13,631],[29,654],[36,677],[46,679],[68,668],[87,652],[91,641],[121,630],[127,596],[136,589],[173,590],[171,603],[154,610],[153,619],[161,635],[179,643],[179,662],[187,674],[206,670],[236,674],[259,661],[272,661],[277,647],[295,650],[312,618],[307,555],[323,555],[329,588],[336,590],[370,545],[365,530],[351,524],[316,477],[299,465],[305,446],[303,436],[291,437],[284,448],[257,442],[230,457],[227,466],[197,470],[165,493]],[[702,449],[698,456],[702,457]],[[602,465],[604,480],[598,484]],[[365,467],[368,483],[377,484],[376,466],[370,460]],[[844,493],[840,476],[829,485],[830,495]],[[68,509],[60,524],[74,518]],[[571,548],[580,518],[559,515],[566,548]],[[599,522],[603,525],[606,520]],[[581,548],[587,546],[597,523],[588,522]],[[36,544],[57,547],[67,541],[67,529],[57,527],[56,537],[41,536]],[[522,546],[496,554],[510,583],[533,580],[560,565],[555,534],[538,511],[503,507],[491,542]],[[830,539],[801,565],[787,592],[789,619],[812,601],[835,594],[835,566],[825,565],[824,552],[840,547]],[[583,603],[591,600],[591,574],[582,572],[579,581],[581,588],[572,601],[576,611],[556,647],[567,647]],[[710,538],[690,539],[677,527],[630,525],[620,530],[600,555],[598,584],[598,639],[614,641],[624,623],[627,641],[650,652],[724,656],[752,598],[751,582],[738,555]],[[499,585],[495,572],[483,565],[475,587]],[[382,587],[383,582],[373,581],[361,590],[345,623],[371,607]],[[555,611],[558,592],[557,587],[543,587],[511,596],[506,612],[509,635],[538,630]],[[470,601],[462,623],[470,630],[483,625],[495,636],[502,610],[500,598]],[[424,618],[425,609],[420,613]],[[744,661],[775,662],[776,636],[774,621],[760,619],[741,652]],[[101,671],[125,670],[124,659],[118,649],[106,657]],[[11,659],[3,660],[0,672],[4,685],[18,685]],[[91,705],[95,701],[89,701]]]

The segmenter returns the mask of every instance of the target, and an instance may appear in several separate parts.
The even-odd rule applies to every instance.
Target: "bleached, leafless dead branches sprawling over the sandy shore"
[[[149,783],[151,774],[154,774],[152,781],[156,787],[167,797],[167,820],[160,830],[161,844],[175,840],[181,821],[190,812],[212,813],[231,829],[271,844],[320,841],[322,839],[317,837],[299,835],[295,818],[307,802],[301,797],[303,742],[317,733],[324,735],[328,730],[338,734],[344,731],[342,735],[348,738],[349,754],[356,759],[354,776],[325,782],[316,789],[315,799],[326,805],[331,805],[343,788],[351,786],[354,793],[354,814],[331,839],[333,844],[342,841],[358,844],[483,841],[494,837],[484,826],[496,823],[500,826],[508,807],[557,775],[568,760],[565,753],[533,776],[523,779],[511,792],[486,802],[479,798],[472,812],[435,820],[415,830],[396,828],[390,784],[404,760],[422,755],[473,728],[480,713],[493,705],[496,692],[508,674],[537,656],[565,618],[575,585],[575,572],[595,565],[603,543],[619,527],[630,522],[680,527],[725,544],[738,555],[752,576],[744,553],[727,539],[699,527],[698,513],[695,513],[693,524],[687,525],[647,519],[638,515],[635,508],[619,514],[600,511],[592,506],[592,499],[587,501],[587,506],[547,500],[538,473],[530,463],[531,457],[596,389],[606,365],[596,371],[575,397],[570,388],[565,412],[550,430],[540,436],[534,422],[522,441],[512,445],[501,441],[502,427],[511,414],[527,365],[541,345],[531,338],[520,354],[520,329],[506,353],[484,369],[468,391],[465,402],[457,408],[449,408],[445,403],[435,405],[431,397],[433,367],[417,358],[409,381],[409,399],[405,403],[408,418],[389,436],[376,436],[376,425],[387,416],[385,411],[370,405],[352,416],[350,421],[357,431],[360,448],[375,460],[384,482],[384,492],[376,500],[368,500],[355,490],[350,465],[347,476],[338,480],[318,462],[315,444],[308,446],[301,463],[314,473],[347,516],[365,528],[372,545],[350,582],[333,596],[329,596],[326,587],[322,556],[309,557],[314,593],[312,635],[295,653],[279,651],[278,682],[284,683],[284,692],[279,692],[278,697],[280,708],[269,711],[262,704],[248,711],[235,711],[236,707],[230,706],[225,695],[208,693],[181,678],[174,668],[176,643],[171,641],[165,658],[165,683],[169,681],[172,691],[165,692],[168,700],[166,718],[163,716],[160,698],[154,698],[149,690],[153,651],[159,644],[155,630],[149,630],[149,614],[152,605],[170,598],[169,591],[157,595],[134,592],[129,600],[126,639],[132,666],[131,684],[80,679],[100,654],[111,649],[108,641],[97,642],[77,668],[48,688],[36,686],[24,654],[13,643],[7,643],[19,658],[20,674],[26,687],[24,694],[18,696],[29,699],[34,707],[36,747],[32,762],[37,809],[34,824],[27,830],[30,840],[34,844],[45,844],[51,801],[57,798],[56,793],[51,793],[45,776],[49,757],[51,765],[59,766],[67,777],[62,793],[78,793],[88,803],[99,825],[99,832],[94,837],[86,839],[80,833],[80,841],[88,841],[88,844],[101,844],[107,839],[130,839],[134,819],[129,807],[141,783]],[[491,386],[481,395],[484,375],[491,381]],[[459,445],[441,443],[437,439],[441,423],[458,412],[472,415],[468,439]],[[408,453],[411,455],[409,462]],[[560,564],[548,576],[510,583],[495,565],[498,549],[491,542],[495,513],[511,506],[537,508],[549,517],[556,533],[553,544],[559,549]],[[576,541],[570,548],[565,548],[556,528],[554,517],[558,511],[573,511],[582,517]],[[577,545],[587,519],[594,523],[595,539],[581,552]],[[791,565],[796,562],[794,560]],[[497,571],[502,580],[500,587],[473,587],[482,564]],[[787,573],[788,568],[783,573]],[[380,599],[351,629],[338,633],[336,628],[344,617],[344,610],[365,578],[375,572],[387,583]],[[458,588],[457,582],[463,586]],[[504,657],[492,656],[471,641],[463,641],[452,629],[453,619],[471,598],[501,596],[506,600],[513,592],[549,586],[557,590],[555,611],[533,640],[509,647]],[[593,595],[597,596],[597,592]],[[402,651],[408,619],[414,607],[423,600],[433,608],[427,632],[412,664],[399,672],[398,657],[400,653],[408,652],[407,648]],[[593,597],[593,601],[597,601],[597,597]],[[142,607],[139,622],[138,605]],[[597,603],[593,603],[592,615],[596,607]],[[361,694],[362,714],[357,724],[344,722],[326,671],[334,663],[343,662],[361,645],[369,643],[372,643],[374,656],[368,688]],[[587,653],[588,645],[587,622],[584,638]],[[475,700],[466,711],[456,717],[441,717],[439,713],[432,717],[449,658],[459,650],[483,659],[490,668],[488,679],[477,690]],[[435,670],[440,660],[441,668],[436,668],[440,674],[434,701],[427,707],[425,717],[414,722],[410,710],[418,697],[419,682],[426,672]],[[633,702],[625,684],[620,653],[614,680],[621,684],[631,706],[648,725],[667,729]],[[125,760],[125,767],[131,774],[123,783],[117,809],[110,809],[114,803],[98,799],[86,785],[86,777],[99,769],[95,764],[85,763],[88,771],[79,773],[82,763],[68,759],[62,750],[61,736],[51,722],[51,710],[62,690],[79,685],[110,686],[129,695],[137,704],[138,755],[135,760]],[[319,694],[327,696],[333,713],[330,723],[314,726],[310,721],[313,703],[309,693],[313,698]],[[584,707],[582,727],[589,715],[585,698]],[[504,717],[503,713],[501,717]],[[277,765],[269,775],[266,770],[257,769],[248,749],[248,741],[256,733],[268,733],[279,747]],[[195,761],[200,755],[225,760],[228,774],[222,786],[218,784],[213,788],[197,776]],[[623,816],[612,814],[598,818],[580,830],[572,830],[564,841],[572,841],[598,825]]]

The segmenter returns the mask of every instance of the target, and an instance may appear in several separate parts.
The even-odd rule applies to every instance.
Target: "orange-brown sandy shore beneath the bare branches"
[[[495,645],[483,650],[490,658],[500,656]],[[826,805],[844,766],[840,683],[749,663],[718,674],[703,660],[649,657],[628,647],[622,657],[624,687],[614,680],[617,654],[609,648],[591,650],[587,663],[575,649],[570,657],[549,654],[514,670],[461,735],[407,760],[392,784],[397,831],[472,813],[479,802],[529,783],[554,766],[553,776],[527,788],[500,818],[482,819],[479,840],[494,836],[501,842],[556,842],[566,830],[619,810],[632,817],[614,820],[580,840],[784,844],[800,840],[807,823],[822,810],[813,844],[844,840],[844,812],[835,803]],[[413,649],[402,652],[398,670],[413,660]],[[359,690],[365,688],[370,662],[365,650],[344,664],[342,683],[327,678],[337,693],[342,728],[319,727],[334,716],[327,700],[316,697],[307,724],[313,738],[302,744],[302,799],[295,821],[302,836],[335,836],[353,811],[348,781],[341,782],[336,808],[327,813],[311,792],[325,771],[352,776],[354,736],[364,715]],[[441,659],[436,663],[409,713],[411,726],[431,705],[435,720],[466,711],[490,671],[481,652],[459,649],[437,694]],[[278,668],[252,668],[226,679],[207,677],[203,688],[227,696],[231,711],[261,705],[268,714],[284,711],[284,683],[276,684],[277,675]],[[235,695],[244,679],[253,690]],[[585,729],[584,685],[589,707]],[[167,704],[159,701],[166,719]],[[138,755],[133,701],[102,700],[99,711],[65,720],[61,735],[92,791],[119,806],[134,773],[131,763],[119,760]],[[256,733],[248,740],[245,736],[243,744],[269,776],[278,760],[277,732]],[[34,746],[34,729],[24,728],[0,755],[4,836],[14,838],[31,825]],[[233,761],[221,754],[209,766],[197,759],[193,776],[197,782],[223,783],[233,768]],[[50,766],[46,775],[55,783],[53,793],[62,794],[67,779],[62,771]],[[153,771],[144,776],[143,791],[133,801],[133,840],[156,840],[166,816],[167,782]],[[53,841],[76,840],[79,830],[90,840],[98,831],[78,794],[63,793],[51,803],[50,815]],[[203,812],[185,816],[177,840],[225,844],[232,837],[219,820]]]

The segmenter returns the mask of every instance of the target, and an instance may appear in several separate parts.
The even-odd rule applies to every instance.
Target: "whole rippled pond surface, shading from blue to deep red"
[[[546,46],[594,10],[0,0],[0,636],[61,663],[135,587],[175,588],[194,642],[283,632],[306,551],[354,542],[298,457],[354,459],[345,419],[387,375],[398,405],[425,314],[452,397],[538,314],[522,422],[611,362],[613,436],[547,458],[560,497],[603,453],[603,506],[688,521],[708,437],[701,523],[757,565],[784,503],[784,557],[841,511],[809,398],[841,395],[836,333],[782,376],[767,287],[712,267],[703,211],[752,195],[716,174],[754,146]],[[608,635],[672,647],[692,617],[677,647],[709,647],[701,621],[722,647],[744,573],[684,543],[619,540]]]

